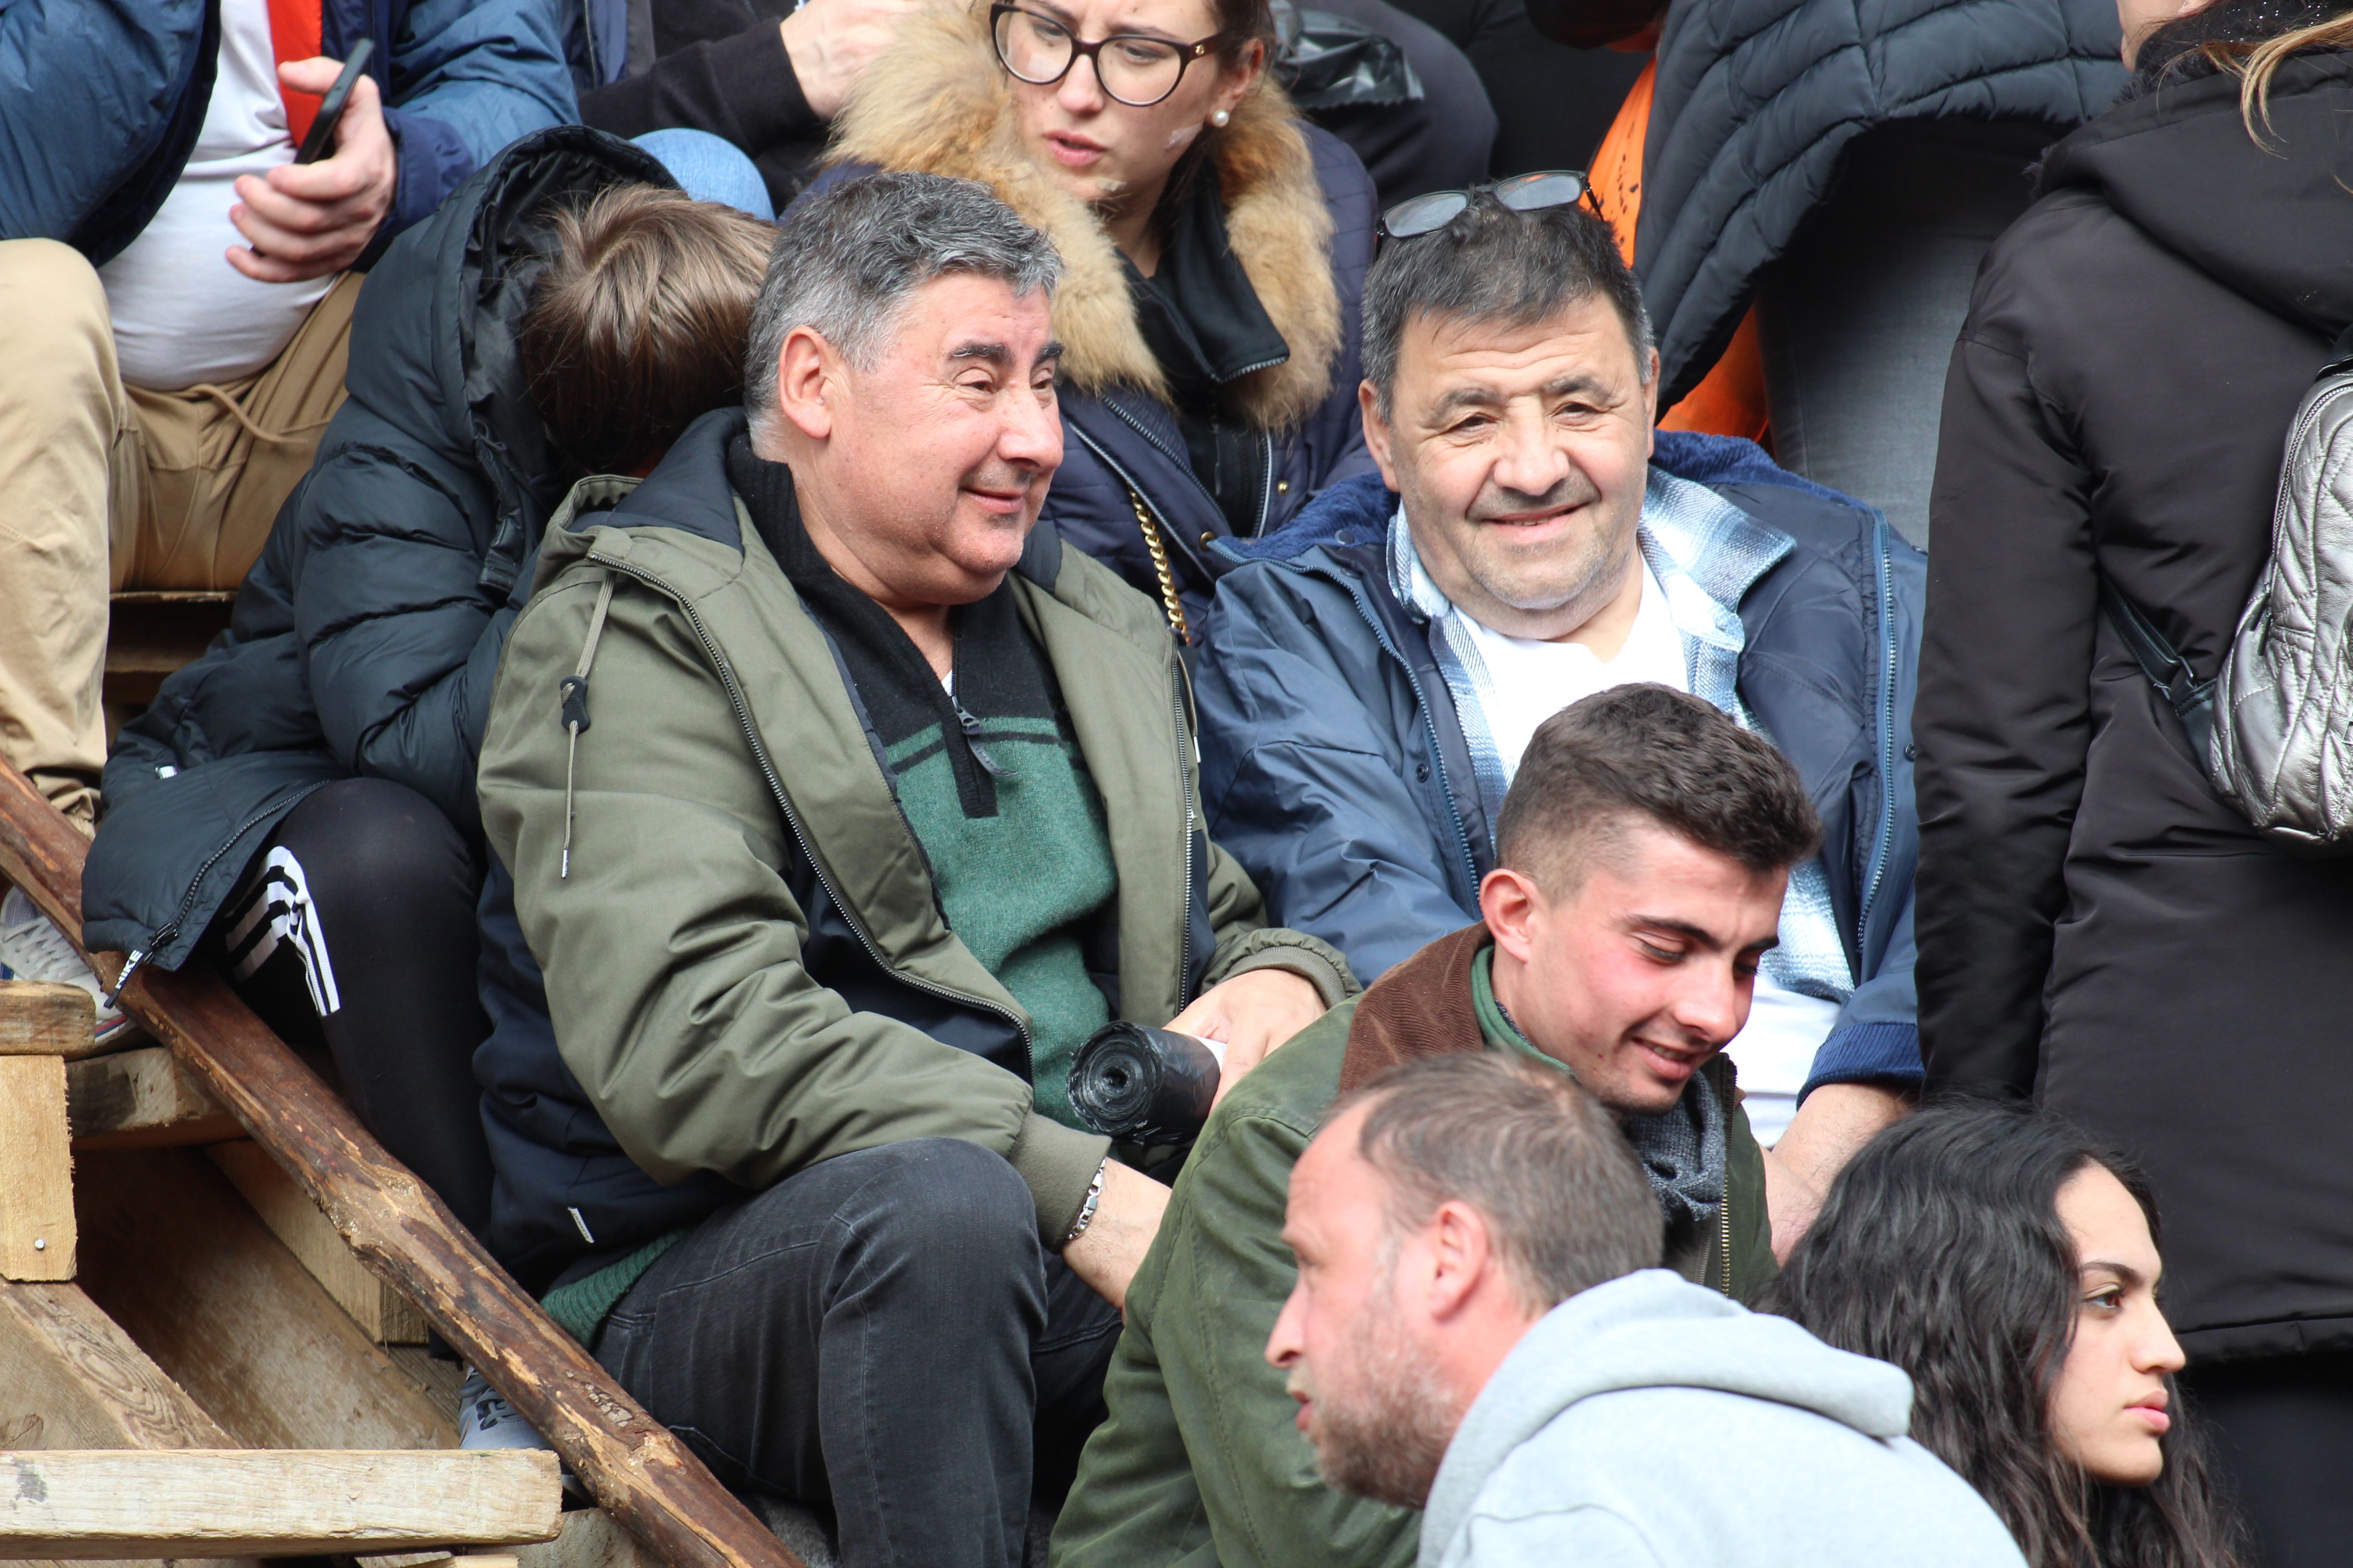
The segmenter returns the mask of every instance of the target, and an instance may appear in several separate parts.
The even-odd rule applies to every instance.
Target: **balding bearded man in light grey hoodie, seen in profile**
[[[1409,1063],[1292,1171],[1266,1345],[1325,1479],[1426,1509],[1421,1568],[2019,1568],[1911,1441],[1911,1380],[1659,1262],[1659,1204],[1567,1074]]]

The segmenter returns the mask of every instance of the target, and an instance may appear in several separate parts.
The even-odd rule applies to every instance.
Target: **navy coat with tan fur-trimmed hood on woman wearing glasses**
[[[1007,78],[991,54],[986,7],[953,7],[908,26],[866,82],[871,92],[835,122],[840,162],[809,190],[873,169],[979,179],[1054,240],[1066,268],[1054,296],[1064,458],[1045,522],[1158,604],[1132,501],[1141,496],[1198,635],[1209,590],[1233,564],[1217,555],[1217,541],[1264,536],[1322,487],[1372,468],[1355,407],[1365,268],[1379,219],[1372,176],[1346,143],[1297,120],[1273,85],[1245,99],[1198,172],[1217,181],[1233,259],[1289,350],[1280,362],[1226,367],[1235,371],[1228,400],[1261,444],[1264,475],[1254,517],[1235,529],[1193,477],[1176,416],[1153,390],[1160,369],[1111,237],[1092,212],[1007,150],[998,129]]]

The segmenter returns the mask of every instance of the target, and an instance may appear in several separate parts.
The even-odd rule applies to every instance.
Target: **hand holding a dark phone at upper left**
[[[294,92],[325,94],[341,71],[341,61],[301,59],[278,66],[278,80]],[[261,282],[341,273],[384,228],[398,183],[400,153],[384,129],[376,80],[362,75],[334,127],[332,158],[278,165],[266,176],[238,176],[238,205],[228,209],[228,221],[254,247],[231,247],[228,266]]]

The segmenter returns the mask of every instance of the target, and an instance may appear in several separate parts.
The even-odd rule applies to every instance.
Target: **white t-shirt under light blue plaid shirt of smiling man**
[[[1640,564],[1640,557],[1635,562]],[[1647,564],[1642,564],[1642,607],[1617,658],[1598,658],[1579,642],[1506,637],[1468,614],[1464,623],[1471,625],[1471,639],[1487,665],[1489,684],[1480,708],[1506,776],[1520,771],[1520,757],[1537,726],[1579,698],[1633,682],[1692,689],[1682,661],[1682,632],[1675,630],[1666,590]],[[1727,1046],[1741,1070],[1744,1110],[1758,1143],[1772,1147],[1781,1138],[1798,1110],[1805,1074],[1814,1067],[1814,1051],[1833,1023],[1838,1023],[1835,1001],[1784,990],[1758,973],[1748,1025]]]

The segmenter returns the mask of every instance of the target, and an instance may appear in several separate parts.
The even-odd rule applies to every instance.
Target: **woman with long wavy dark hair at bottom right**
[[[1847,1164],[1765,1309],[1911,1373],[1913,1439],[2033,1568],[2235,1568],[2158,1269],[2132,1161],[2049,1112],[1944,1105]]]

